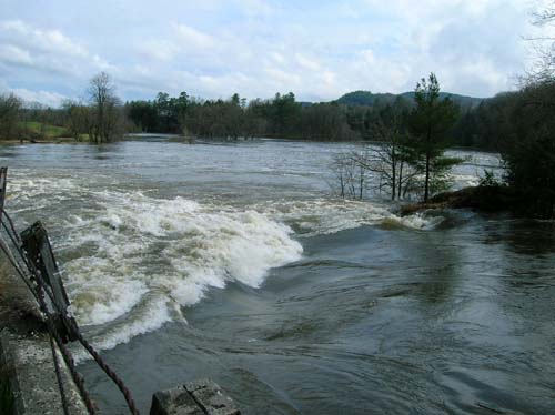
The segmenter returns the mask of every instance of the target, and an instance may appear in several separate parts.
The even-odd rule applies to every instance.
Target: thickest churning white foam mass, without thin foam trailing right
[[[78,321],[118,326],[94,338],[101,348],[157,330],[173,320],[174,304],[191,306],[210,287],[258,287],[270,269],[302,255],[289,226],[254,211],[140,192],[95,196],[101,209],[68,216],[59,247],[69,257],[63,272]]]

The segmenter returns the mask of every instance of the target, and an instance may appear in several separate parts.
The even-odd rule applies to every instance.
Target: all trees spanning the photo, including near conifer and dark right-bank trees
[[[535,23],[553,22],[555,2],[551,1]],[[93,143],[110,142],[130,131],[205,139],[373,142],[377,145],[334,160],[339,192],[362,199],[367,175],[373,174],[377,178],[373,183],[387,190],[392,200],[415,193],[428,200],[445,189],[450,169],[461,162],[445,156],[448,146],[492,150],[502,154],[504,184],[533,201],[532,211],[553,217],[555,43],[544,40],[537,65],[522,78],[521,88],[478,105],[457,104],[442,94],[434,74],[421,80],[413,93],[382,97],[372,105],[304,103],[291,92],[250,102],[236,93],[226,100],[202,100],[186,92],[178,97],[160,92],[154,100],[122,103],[110,77],[100,73],[91,80],[85,100],[67,101],[61,109],[24,105],[14,94],[0,94],[0,138],[22,138],[31,133],[26,125],[38,122],[63,126],[75,140]],[[41,129],[32,133],[40,134]]]

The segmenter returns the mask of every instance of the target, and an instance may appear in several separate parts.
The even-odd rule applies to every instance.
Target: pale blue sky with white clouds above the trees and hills
[[[491,97],[529,59],[533,0],[0,0],[0,90],[57,104],[110,73],[123,99]]]

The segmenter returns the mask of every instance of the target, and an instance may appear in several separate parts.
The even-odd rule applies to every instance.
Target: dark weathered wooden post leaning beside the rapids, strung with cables
[[[70,302],[63,282],[60,276],[58,264],[56,263],[52,245],[48,239],[48,233],[41,222],[33,223],[30,227],[21,232],[22,247],[27,253],[29,261],[40,272],[44,282],[49,285],[56,304],[52,304],[50,297],[46,296],[48,313],[57,323],[62,340],[67,342],[75,341],[71,323],[68,315]],[[47,287],[47,290],[49,289]]]

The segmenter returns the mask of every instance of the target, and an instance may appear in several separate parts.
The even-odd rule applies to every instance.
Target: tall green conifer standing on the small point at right
[[[422,79],[414,93],[416,107],[408,118],[412,139],[407,145],[415,154],[414,165],[424,174],[425,202],[442,188],[450,170],[461,162],[444,155],[458,108],[450,98],[442,100],[440,90],[435,74],[431,73],[427,80]]]

